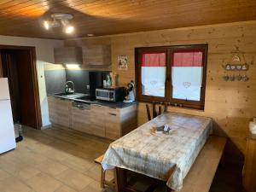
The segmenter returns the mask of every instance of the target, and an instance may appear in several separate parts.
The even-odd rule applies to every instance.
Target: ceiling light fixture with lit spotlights
[[[74,26],[70,24],[69,20],[73,19],[70,14],[52,14],[52,20],[44,20],[44,28],[50,30],[51,28],[63,26],[64,32],[70,34],[74,31]]]

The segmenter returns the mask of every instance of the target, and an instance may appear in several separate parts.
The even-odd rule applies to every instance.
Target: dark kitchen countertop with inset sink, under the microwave
[[[82,94],[82,93],[75,93],[73,95],[67,95],[67,96],[56,96],[55,94],[52,95],[48,95],[48,96],[53,96],[55,98],[60,98],[62,100],[69,100],[69,101],[73,101],[73,102],[82,102],[82,103],[86,103],[86,104],[92,104],[92,105],[101,105],[101,106],[106,106],[109,108],[127,108],[131,105],[135,105],[137,104],[137,102],[104,102],[104,101],[90,101],[90,100],[79,100],[76,99],[75,97],[79,97],[79,96],[89,96],[86,94]]]

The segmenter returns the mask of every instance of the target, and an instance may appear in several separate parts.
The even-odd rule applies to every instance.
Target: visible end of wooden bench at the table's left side
[[[94,160],[96,164],[101,165],[101,188],[105,189],[106,185],[113,189],[113,191],[118,192],[118,186],[117,186],[117,176],[116,176],[116,169],[113,169],[113,179],[111,181],[106,180],[106,170],[104,171],[102,168],[102,159],[104,157],[104,154],[96,158]]]

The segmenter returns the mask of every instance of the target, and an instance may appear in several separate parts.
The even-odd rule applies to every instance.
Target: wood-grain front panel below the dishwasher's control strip
[[[73,129],[91,134],[90,109],[72,108]]]

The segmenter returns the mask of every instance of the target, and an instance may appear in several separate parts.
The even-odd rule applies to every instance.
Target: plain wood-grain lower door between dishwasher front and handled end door
[[[92,134],[99,137],[105,137],[106,107],[92,105],[90,109],[90,127]]]

